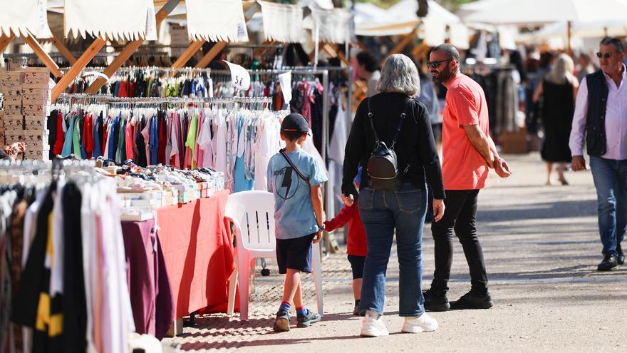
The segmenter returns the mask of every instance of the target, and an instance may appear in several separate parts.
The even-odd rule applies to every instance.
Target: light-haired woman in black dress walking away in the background
[[[541,156],[546,162],[546,185],[551,185],[553,163],[559,163],[557,173],[561,185],[568,185],[564,178],[566,163],[571,161],[569,138],[575,111],[575,98],[579,81],[573,74],[574,63],[562,53],[551,71],[542,78],[534,93],[534,102],[542,98],[541,121],[544,126],[544,145]]]

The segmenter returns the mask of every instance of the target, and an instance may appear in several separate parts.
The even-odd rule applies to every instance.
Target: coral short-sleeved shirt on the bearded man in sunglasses
[[[448,87],[442,121],[442,179],[445,190],[475,190],[487,186],[487,163],[464,129],[464,126],[470,125],[479,126],[485,135],[489,135],[483,88],[460,73]]]

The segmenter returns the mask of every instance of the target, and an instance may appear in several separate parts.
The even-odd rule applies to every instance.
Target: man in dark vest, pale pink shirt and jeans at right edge
[[[596,56],[601,71],[581,81],[569,147],[573,170],[584,170],[586,138],[603,243],[603,261],[597,269],[608,271],[625,262],[621,247],[627,231],[627,84],[623,43],[605,38]]]

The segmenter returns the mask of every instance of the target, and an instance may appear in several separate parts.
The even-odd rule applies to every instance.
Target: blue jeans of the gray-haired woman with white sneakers
[[[361,309],[383,314],[385,273],[396,230],[400,270],[399,315],[420,316],[425,312],[421,282],[427,192],[408,183],[403,184],[398,191],[363,188],[359,193],[358,206],[368,242]]]

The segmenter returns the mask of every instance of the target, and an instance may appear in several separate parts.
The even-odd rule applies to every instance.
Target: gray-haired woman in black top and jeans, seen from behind
[[[427,210],[427,186],[433,191],[435,219],[444,215],[442,170],[431,131],[429,113],[415,100],[420,93],[420,78],[415,63],[402,54],[390,56],[383,66],[378,94],[364,99],[357,108],[351,134],[346,143],[342,199],[358,208],[366,228],[368,255],[363,271],[361,309],[366,310],[361,335],[388,334],[383,324],[385,272],[396,231],[400,270],[399,315],[405,317],[403,332],[437,329],[437,321],[425,313],[420,291],[423,276],[422,237]],[[390,146],[396,154],[398,183],[373,182],[368,160],[375,142]],[[358,168],[359,194],[353,185]]]

